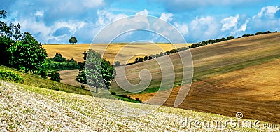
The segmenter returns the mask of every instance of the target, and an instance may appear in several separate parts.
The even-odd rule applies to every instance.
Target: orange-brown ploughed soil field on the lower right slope
[[[232,117],[242,112],[246,119],[280,123],[279,71],[280,59],[195,81],[179,107]],[[172,90],[165,106],[174,107],[179,89],[180,86]],[[159,94],[164,96],[168,92],[160,91]],[[153,95],[155,93],[131,96],[145,101]]]

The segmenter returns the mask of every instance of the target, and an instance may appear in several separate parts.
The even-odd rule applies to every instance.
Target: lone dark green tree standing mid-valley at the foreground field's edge
[[[98,92],[98,88],[107,88],[111,86],[111,81],[116,75],[116,71],[110,62],[102,59],[101,55],[93,50],[83,53],[85,68],[80,67],[79,74],[76,80],[82,84],[93,86]]]

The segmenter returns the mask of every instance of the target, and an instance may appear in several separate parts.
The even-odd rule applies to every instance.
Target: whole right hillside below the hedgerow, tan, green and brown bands
[[[229,116],[241,111],[246,118],[279,123],[279,40],[280,33],[263,34],[191,49],[193,84],[179,107]],[[177,54],[170,58],[174,65],[180,65]],[[155,60],[127,66],[126,77],[132,84],[138,84],[139,72],[144,68],[152,73],[151,85],[142,92],[146,94],[133,96],[148,100],[160,86],[161,71]],[[175,67],[177,82],[181,81],[182,68]],[[111,90],[132,94],[118,88],[115,82]],[[165,105],[174,106],[177,93],[175,88]]]

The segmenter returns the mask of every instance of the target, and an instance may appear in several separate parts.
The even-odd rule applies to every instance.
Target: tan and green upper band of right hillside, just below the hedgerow
[[[272,33],[192,48],[190,52],[193,55],[193,80],[208,79],[220,74],[275,60],[280,57],[279,40],[280,33]],[[181,86],[183,67],[180,64],[181,60],[179,59],[179,55],[178,53],[174,53],[169,56],[163,56],[160,60],[169,60],[169,57],[175,66],[176,78],[174,87]],[[153,93],[158,91],[162,77],[160,66],[155,60],[128,65],[125,69],[127,80],[132,84],[138,84],[140,82],[139,72],[143,69],[148,69],[151,71],[153,78],[148,88],[141,93]],[[116,67],[116,70],[116,78],[118,78],[118,67]],[[120,78],[119,80],[125,79]],[[115,91],[119,94],[134,94],[124,91],[116,84],[116,81],[113,81],[111,91]]]

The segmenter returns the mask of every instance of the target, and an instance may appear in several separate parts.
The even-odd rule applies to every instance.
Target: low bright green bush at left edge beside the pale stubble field
[[[23,84],[24,82],[19,74],[6,70],[0,70],[0,79],[5,81],[13,81],[21,84]]]

